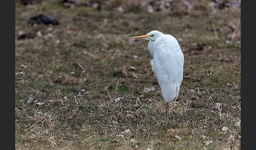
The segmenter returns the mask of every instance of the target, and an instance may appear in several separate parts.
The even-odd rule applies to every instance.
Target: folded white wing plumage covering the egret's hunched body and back
[[[164,35],[154,42],[154,72],[164,99],[171,101],[178,96],[183,78],[184,56],[178,41]]]

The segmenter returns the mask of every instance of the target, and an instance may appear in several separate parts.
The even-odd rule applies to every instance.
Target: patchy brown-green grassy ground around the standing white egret
[[[239,8],[15,7],[16,149],[240,149]],[[28,25],[37,14],[60,24]],[[176,37],[185,59],[168,120],[147,41],[130,40],[153,29]],[[35,38],[18,40],[20,31]]]

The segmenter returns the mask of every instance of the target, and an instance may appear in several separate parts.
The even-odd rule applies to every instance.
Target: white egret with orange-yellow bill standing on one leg
[[[150,60],[151,68],[166,102],[165,119],[167,119],[168,103],[178,98],[183,80],[184,55],[179,42],[172,35],[157,30],[131,39],[149,40],[147,48],[153,57]]]

